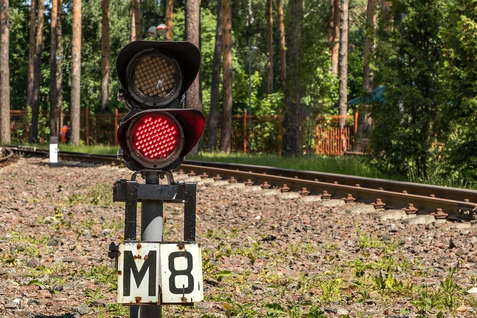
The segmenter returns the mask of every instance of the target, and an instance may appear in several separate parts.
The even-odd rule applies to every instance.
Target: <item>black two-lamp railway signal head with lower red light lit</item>
[[[197,77],[200,59],[190,42],[134,41],[119,53],[118,100],[130,112],[117,139],[131,170],[174,170],[199,141],[204,114],[176,107]]]

